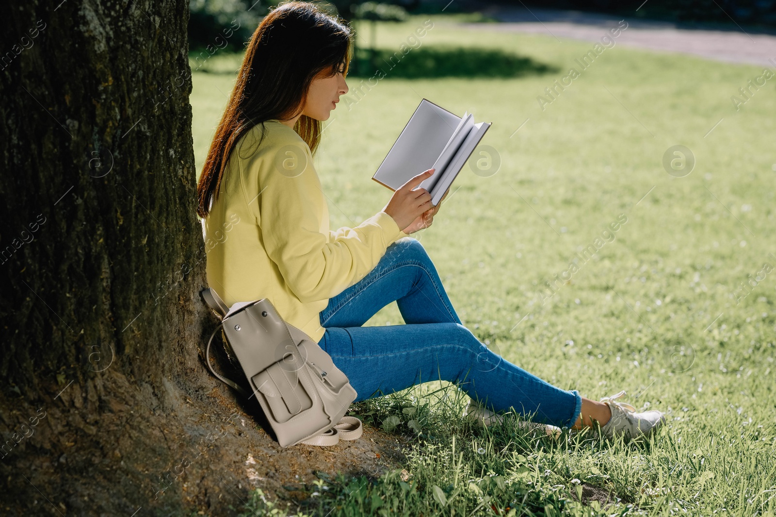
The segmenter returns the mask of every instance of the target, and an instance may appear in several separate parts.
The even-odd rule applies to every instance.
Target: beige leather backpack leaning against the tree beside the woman
[[[348,377],[310,336],[283,321],[267,298],[229,308],[212,289],[202,295],[221,318],[207,342],[208,369],[244,397],[256,397],[280,446],[331,446],[362,435],[361,421],[345,416],[356,397]],[[210,344],[222,325],[227,356],[243,370],[252,393],[210,365]]]

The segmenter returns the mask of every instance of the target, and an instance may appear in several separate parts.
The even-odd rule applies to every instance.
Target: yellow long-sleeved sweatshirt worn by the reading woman
[[[218,199],[202,220],[207,282],[230,307],[268,298],[319,342],[328,299],[366,276],[407,234],[385,212],[329,230],[310,147],[277,120],[265,127],[260,145],[258,125],[234,146]]]

